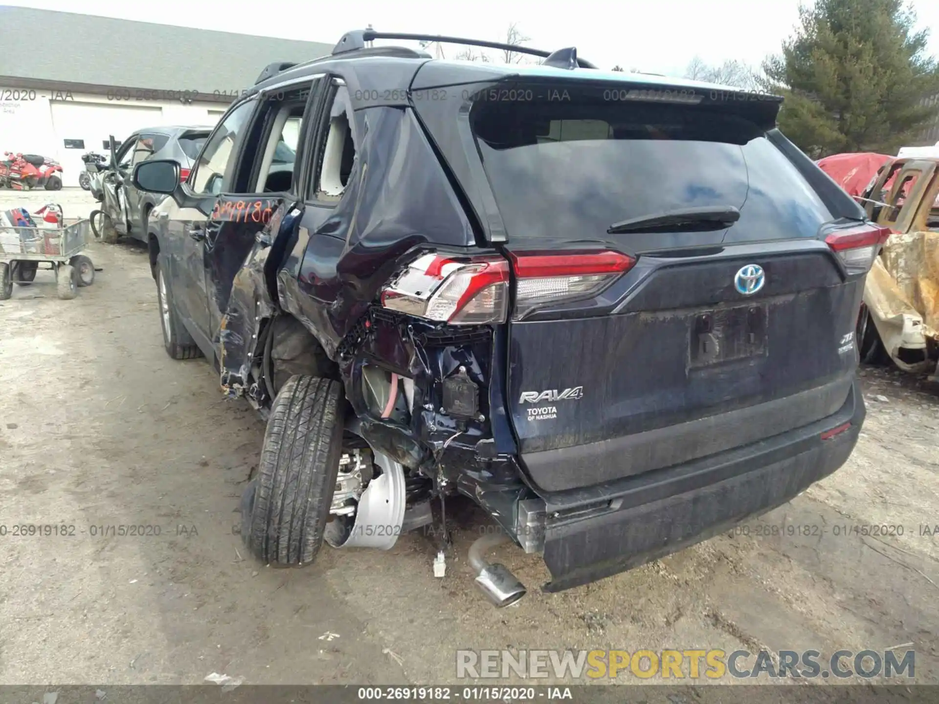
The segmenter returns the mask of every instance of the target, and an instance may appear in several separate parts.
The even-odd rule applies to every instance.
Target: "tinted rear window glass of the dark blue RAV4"
[[[614,222],[733,206],[725,241],[815,237],[833,219],[740,115],[651,102],[483,102],[472,130],[508,237],[628,241]]]

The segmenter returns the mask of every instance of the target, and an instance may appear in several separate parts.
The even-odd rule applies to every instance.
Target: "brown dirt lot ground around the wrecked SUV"
[[[63,195],[67,215],[90,208]],[[0,207],[20,200],[46,197]],[[498,557],[530,595],[495,610],[469,578],[482,516],[466,507],[443,579],[420,535],[390,552],[324,548],[300,571],[248,558],[233,527],[263,423],[223,400],[204,360],[166,356],[142,247],[90,254],[103,270],[75,300],[40,272],[0,304],[0,683],[439,683],[454,681],[461,648],[911,643],[916,681],[939,682],[939,535],[920,528],[939,524],[939,396],[922,382],[864,370],[851,460],[749,535],[557,595],[537,589],[539,559],[506,547]],[[13,536],[21,524],[75,533]],[[807,534],[755,535],[782,524]],[[111,526],[160,534],[102,537]]]

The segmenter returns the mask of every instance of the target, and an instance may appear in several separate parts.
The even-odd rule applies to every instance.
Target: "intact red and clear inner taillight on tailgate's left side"
[[[636,264],[619,252],[510,253],[517,287],[514,318],[550,303],[591,298]]]

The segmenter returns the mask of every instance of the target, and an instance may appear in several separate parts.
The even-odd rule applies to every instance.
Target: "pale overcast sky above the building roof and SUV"
[[[740,59],[759,65],[792,32],[799,0],[234,0],[225,4],[8,0],[4,4],[330,44],[349,29],[369,23],[385,31],[494,41],[504,39],[509,23],[517,23],[531,38],[526,43],[538,49],[573,45],[601,69],[620,64],[627,70],[680,75],[696,54],[709,64]],[[912,4],[919,25],[931,29],[931,54],[939,54],[939,0]],[[100,44],[107,46],[114,39],[101,37]],[[146,47],[126,49],[146,51]],[[449,47],[447,55],[458,50]]]

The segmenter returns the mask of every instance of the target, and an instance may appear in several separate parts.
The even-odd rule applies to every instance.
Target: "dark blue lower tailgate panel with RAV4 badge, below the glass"
[[[602,312],[510,324],[510,416],[534,483],[561,491],[670,467],[844,404],[861,284],[842,282],[822,243],[747,249],[645,256]],[[766,283],[745,297],[733,282],[750,265]]]

